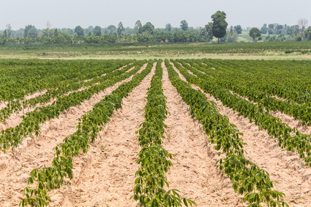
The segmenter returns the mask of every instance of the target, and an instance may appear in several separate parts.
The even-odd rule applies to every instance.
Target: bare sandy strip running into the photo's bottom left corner
[[[145,64],[138,72],[141,72]],[[124,81],[131,80],[133,76]],[[91,110],[95,103],[105,95],[109,95],[124,81],[93,95],[91,99],[84,101],[80,106],[70,107],[57,119],[41,124],[41,135],[35,139],[26,137],[15,152],[0,152],[0,204],[1,206],[18,206],[23,198],[23,188],[27,186],[27,178],[31,170],[50,166],[54,150],[53,148],[62,142],[68,135],[75,132],[78,124],[77,118]]]

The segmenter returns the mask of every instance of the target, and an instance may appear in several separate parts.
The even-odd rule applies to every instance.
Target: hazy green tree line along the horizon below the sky
[[[39,30],[28,25],[23,29],[12,30],[10,24],[0,34],[1,45],[32,44],[32,43],[153,43],[153,42],[213,42],[214,38],[220,42],[236,42],[238,35],[242,34],[240,25],[227,28],[225,12],[218,11],[211,15],[211,22],[202,28],[189,27],[186,20],[180,21],[179,28],[173,28],[167,23],[165,28],[155,28],[151,22],[142,25],[138,20],[133,28],[124,28],[122,22],[117,27],[111,25],[107,28],[89,26],[82,28],[50,28],[47,22],[46,29]],[[261,29],[252,28],[249,36],[253,41],[261,40],[261,34],[269,34],[264,41],[303,41],[311,40],[311,27],[307,28],[308,21],[299,20],[296,26],[280,25],[278,23],[264,24]],[[299,36],[301,33],[301,36]]]

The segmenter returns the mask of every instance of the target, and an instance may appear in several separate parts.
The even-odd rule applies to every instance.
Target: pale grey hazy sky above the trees
[[[150,21],[156,28],[166,23],[179,27],[185,19],[189,26],[205,26],[211,14],[226,12],[229,26],[261,27],[263,23],[294,25],[298,19],[309,20],[311,0],[0,0],[0,30],[10,23],[13,30],[28,24],[46,28],[75,28],[75,26],[117,26],[133,28],[139,19]]]

